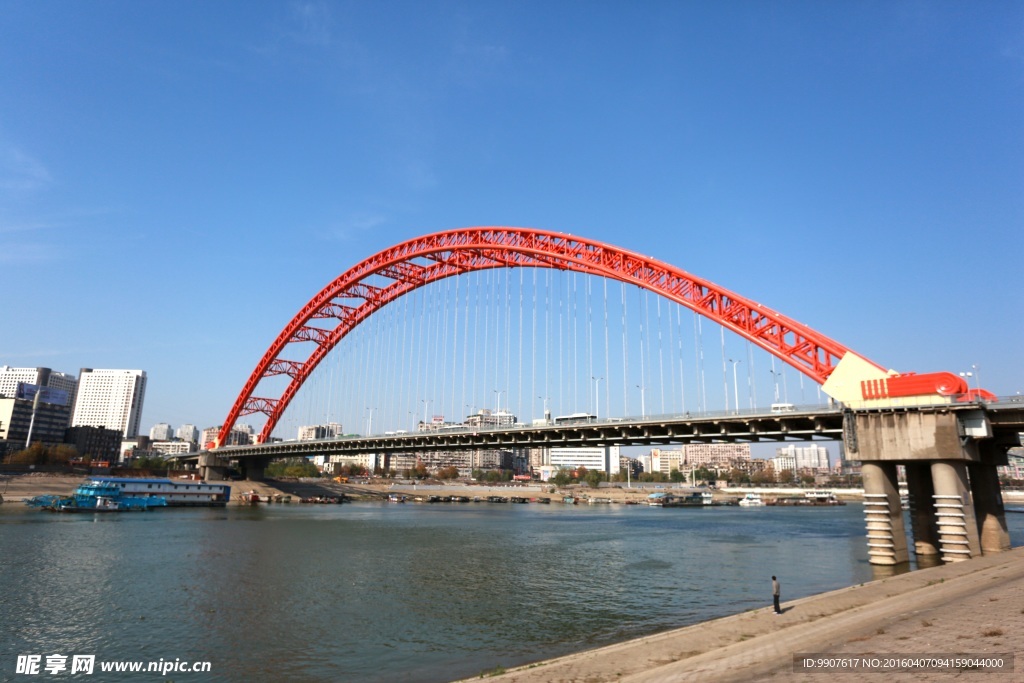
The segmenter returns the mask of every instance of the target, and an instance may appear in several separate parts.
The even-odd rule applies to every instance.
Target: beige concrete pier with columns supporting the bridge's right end
[[[861,461],[871,564],[908,562],[897,465],[906,469],[913,552],[923,563],[955,562],[1010,548],[995,468],[1006,451],[985,440],[981,411],[850,413],[848,458]]]

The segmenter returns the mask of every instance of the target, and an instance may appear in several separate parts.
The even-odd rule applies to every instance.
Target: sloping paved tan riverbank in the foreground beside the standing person
[[[798,574],[795,567],[794,574]],[[783,577],[784,579],[784,577]],[[795,581],[791,580],[791,581]],[[770,578],[765,597],[770,600]],[[505,683],[855,681],[865,672],[795,673],[797,653],[955,655],[1013,653],[1024,671],[1024,548],[881,579],[713,622],[540,661],[487,677]],[[961,673],[887,673],[886,683],[943,681]],[[472,680],[472,679],[466,679]]]

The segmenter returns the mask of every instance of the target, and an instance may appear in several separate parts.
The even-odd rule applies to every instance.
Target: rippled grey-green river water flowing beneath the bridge
[[[451,681],[765,607],[773,573],[783,603],[870,581],[862,506],[7,504],[0,680],[126,680],[15,674],[62,653],[211,663],[132,680]]]

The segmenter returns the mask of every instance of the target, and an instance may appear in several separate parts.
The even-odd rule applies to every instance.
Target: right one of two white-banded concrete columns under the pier
[[[957,562],[981,555],[974,500],[967,479],[967,465],[961,461],[932,463],[935,494],[935,523],[943,562]]]

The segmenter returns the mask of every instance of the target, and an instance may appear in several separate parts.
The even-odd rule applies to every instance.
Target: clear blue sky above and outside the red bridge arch
[[[1024,391],[1024,4],[3,2],[0,365],[218,424],[324,285],[480,224]]]

